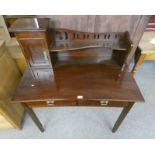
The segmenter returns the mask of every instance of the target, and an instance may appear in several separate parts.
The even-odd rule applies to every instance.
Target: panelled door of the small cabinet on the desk
[[[49,66],[48,49],[44,39],[20,40],[31,67]]]

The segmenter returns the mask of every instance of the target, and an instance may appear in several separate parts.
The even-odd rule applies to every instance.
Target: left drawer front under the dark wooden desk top
[[[76,100],[47,100],[28,102],[30,107],[57,107],[57,106],[76,106]]]

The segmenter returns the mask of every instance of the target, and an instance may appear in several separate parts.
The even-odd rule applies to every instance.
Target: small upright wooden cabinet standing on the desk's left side
[[[48,19],[19,18],[9,31],[15,34],[30,68],[52,68],[48,50],[51,31]]]

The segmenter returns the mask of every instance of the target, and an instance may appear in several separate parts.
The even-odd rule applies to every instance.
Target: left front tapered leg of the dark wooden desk
[[[44,132],[44,128],[43,128],[41,122],[39,121],[38,117],[36,116],[36,114],[32,110],[32,108],[30,108],[29,106],[27,106],[25,103],[22,103],[22,105],[23,105],[24,109],[26,110],[26,112],[29,114],[29,116],[32,118],[33,122],[37,125],[37,127],[39,128],[39,130],[41,132]]]

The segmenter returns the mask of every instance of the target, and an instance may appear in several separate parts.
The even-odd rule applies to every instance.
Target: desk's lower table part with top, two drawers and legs
[[[95,74],[94,74],[95,71]],[[119,70],[118,70],[119,71]],[[128,72],[117,80],[117,69],[101,64],[27,69],[14,94],[41,131],[44,131],[32,107],[98,106],[123,107],[112,131],[115,132],[135,102],[144,101]]]

